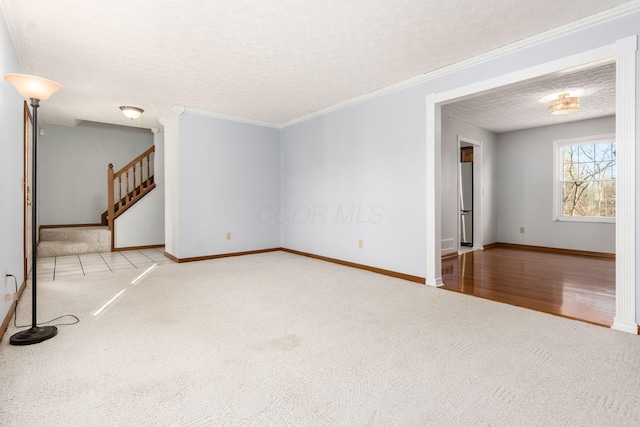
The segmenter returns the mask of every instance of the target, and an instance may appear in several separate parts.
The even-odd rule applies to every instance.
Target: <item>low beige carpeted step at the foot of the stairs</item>
[[[42,228],[38,257],[82,255],[111,251],[109,227]]]

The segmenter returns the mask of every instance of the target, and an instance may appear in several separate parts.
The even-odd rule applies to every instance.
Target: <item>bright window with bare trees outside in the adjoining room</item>
[[[615,135],[554,141],[556,221],[614,222]]]

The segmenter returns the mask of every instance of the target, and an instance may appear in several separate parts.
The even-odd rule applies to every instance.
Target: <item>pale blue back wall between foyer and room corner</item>
[[[260,216],[280,201],[278,129],[185,113],[178,132],[179,253],[172,255],[279,247],[278,224]]]

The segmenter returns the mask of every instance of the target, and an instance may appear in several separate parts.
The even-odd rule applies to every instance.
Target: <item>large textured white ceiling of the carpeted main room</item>
[[[16,72],[64,86],[46,122],[145,128],[173,105],[286,123],[628,2],[0,0]]]

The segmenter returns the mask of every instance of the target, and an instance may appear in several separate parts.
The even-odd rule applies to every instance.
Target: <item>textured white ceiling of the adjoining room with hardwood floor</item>
[[[577,95],[580,109],[549,114],[550,98],[560,93]],[[614,115],[615,95],[616,66],[612,63],[444,105],[442,115],[501,133]]]

